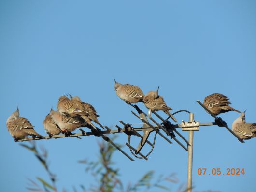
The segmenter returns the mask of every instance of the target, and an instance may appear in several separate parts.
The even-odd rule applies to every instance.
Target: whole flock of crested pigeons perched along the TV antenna
[[[148,109],[153,111],[161,110],[170,116],[174,122],[177,122],[175,117],[169,112],[172,109],[167,106],[164,98],[159,96],[159,87],[156,91],[149,91],[144,95],[138,86],[120,84],[114,80],[114,89],[116,95],[127,104],[143,102]],[[97,115],[95,108],[91,104],[81,101],[78,96],[72,97],[70,95],[70,98],[67,96],[68,95],[59,97],[57,111],[51,108],[50,113],[43,120],[43,127],[50,137],[60,133],[66,136],[73,135],[72,131],[80,127],[88,127],[92,131],[99,131],[100,129],[96,127],[92,121],[104,129],[104,126],[102,126],[98,120],[99,115]],[[228,100],[228,97],[223,94],[213,93],[205,97],[203,105],[213,115],[219,115],[228,111],[241,113],[239,110],[232,108]],[[27,136],[40,139],[44,138],[33,129],[33,125],[31,125],[28,119],[19,117],[18,108],[7,119],[6,125],[15,141],[24,139]],[[241,139],[256,137],[256,123],[246,123],[245,112],[242,112],[233,122],[232,130]]]

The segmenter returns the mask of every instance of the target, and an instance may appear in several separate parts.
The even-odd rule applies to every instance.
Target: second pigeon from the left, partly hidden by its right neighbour
[[[51,111],[52,111],[52,108],[51,108]],[[43,127],[50,138],[53,135],[58,135],[62,132],[61,129],[58,127],[58,125],[53,121],[50,113],[43,120]]]

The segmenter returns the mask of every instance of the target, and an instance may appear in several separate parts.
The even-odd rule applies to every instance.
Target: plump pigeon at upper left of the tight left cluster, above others
[[[86,115],[87,113],[80,109],[77,104],[71,101],[67,95],[60,96],[57,103],[57,110],[61,115],[77,117],[79,115]]]

